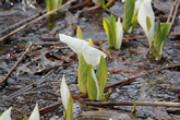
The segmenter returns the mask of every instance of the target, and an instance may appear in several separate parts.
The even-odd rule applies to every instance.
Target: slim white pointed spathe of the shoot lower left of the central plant
[[[68,85],[65,83],[64,75],[63,75],[62,82],[61,82],[61,99],[62,99],[63,108],[65,109],[65,112],[68,112],[68,103],[70,99],[70,92],[68,89]]]

